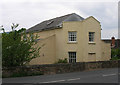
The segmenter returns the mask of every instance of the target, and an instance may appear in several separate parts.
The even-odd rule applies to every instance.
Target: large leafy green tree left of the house
[[[33,58],[39,57],[41,47],[37,44],[37,35],[27,34],[25,28],[15,30],[18,24],[11,26],[12,31],[7,33],[2,28],[2,65],[3,67],[23,66]]]

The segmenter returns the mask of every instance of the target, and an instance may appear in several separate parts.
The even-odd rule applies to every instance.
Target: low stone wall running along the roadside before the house
[[[46,65],[32,65],[22,67],[3,68],[3,77],[11,77],[13,74],[27,74],[27,75],[46,75],[46,74],[59,74],[68,72],[79,72],[96,70],[103,68],[116,68],[118,61],[98,61],[98,62],[77,62],[66,64],[46,64]]]

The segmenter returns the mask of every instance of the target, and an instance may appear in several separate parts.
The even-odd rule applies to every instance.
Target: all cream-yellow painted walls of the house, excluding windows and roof
[[[68,32],[77,32],[77,42],[68,42]],[[89,43],[89,32],[95,32],[95,41]],[[41,49],[39,58],[33,59],[30,64],[52,64],[59,59],[67,58],[68,52],[77,53],[77,62],[104,61],[110,59],[110,47],[101,41],[101,26],[94,18],[89,17],[83,21],[63,22],[61,29],[37,32],[40,37],[38,46],[45,44]],[[103,46],[107,47],[106,49]],[[95,53],[90,56],[89,53]],[[104,52],[104,55],[102,54]],[[43,56],[44,54],[44,56]]]

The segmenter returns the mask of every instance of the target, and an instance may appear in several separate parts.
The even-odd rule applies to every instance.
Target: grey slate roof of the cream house
[[[64,15],[61,17],[56,17],[50,20],[43,21],[27,30],[27,32],[37,32],[37,31],[43,31],[43,30],[50,30],[55,28],[61,28],[63,21],[82,21],[84,20],[83,17],[72,13],[68,15]]]

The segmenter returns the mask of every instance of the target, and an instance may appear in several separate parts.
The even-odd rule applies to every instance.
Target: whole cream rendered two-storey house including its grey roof
[[[39,36],[40,57],[29,64],[106,61],[111,59],[110,44],[101,40],[101,25],[90,16],[86,19],[72,13],[41,22],[27,30]]]

